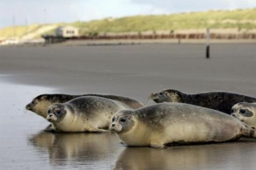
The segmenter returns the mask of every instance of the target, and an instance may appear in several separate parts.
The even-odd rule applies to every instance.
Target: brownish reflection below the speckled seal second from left
[[[89,165],[95,161],[113,160],[110,155],[122,149],[114,134],[40,132],[28,138],[28,143],[41,152],[48,152],[52,166]],[[119,146],[119,147],[118,147]],[[119,149],[116,149],[119,148]]]

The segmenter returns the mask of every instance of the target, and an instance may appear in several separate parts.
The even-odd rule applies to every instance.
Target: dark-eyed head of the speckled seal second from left
[[[68,108],[65,107],[65,104],[52,104],[48,108],[48,114],[46,119],[51,123],[60,122],[65,118]]]

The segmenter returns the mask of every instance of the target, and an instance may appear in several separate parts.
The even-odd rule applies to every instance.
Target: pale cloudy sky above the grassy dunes
[[[256,0],[0,0],[0,27],[256,7]]]

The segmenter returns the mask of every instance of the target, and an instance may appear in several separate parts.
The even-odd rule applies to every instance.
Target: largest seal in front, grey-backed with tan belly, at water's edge
[[[113,116],[109,129],[127,146],[152,148],[256,138],[254,129],[230,115],[184,103],[121,110]]]

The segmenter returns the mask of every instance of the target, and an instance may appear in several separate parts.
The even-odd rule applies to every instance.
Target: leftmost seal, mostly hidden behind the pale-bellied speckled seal
[[[120,95],[108,95],[108,94],[84,94],[84,95],[67,95],[67,94],[43,94],[35,97],[29,104],[26,105],[26,109],[35,114],[40,115],[43,118],[47,117],[48,107],[51,104],[55,103],[65,103],[69,100],[73,100],[77,97],[82,96],[94,96],[94,97],[103,97],[109,98],[115,101],[126,104],[127,106],[132,107],[132,109],[138,109],[143,107],[144,104],[140,101],[134,100],[129,97],[124,97]]]

